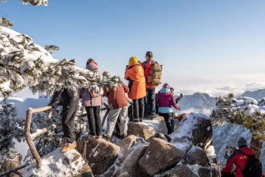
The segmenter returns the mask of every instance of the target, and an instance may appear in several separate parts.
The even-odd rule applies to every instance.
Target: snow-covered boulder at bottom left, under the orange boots
[[[42,166],[36,169],[36,161],[22,169],[23,177],[93,177],[92,170],[82,156],[72,149],[62,153],[58,148],[42,158]]]

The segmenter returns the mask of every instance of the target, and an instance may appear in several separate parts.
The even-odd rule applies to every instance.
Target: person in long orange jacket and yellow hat
[[[129,81],[128,97],[132,99],[132,122],[142,122],[146,87],[144,70],[136,56],[132,56],[129,60],[129,66],[125,71],[125,79]]]

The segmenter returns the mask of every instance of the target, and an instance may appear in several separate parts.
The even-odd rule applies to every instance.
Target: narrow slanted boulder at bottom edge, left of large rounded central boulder
[[[148,145],[143,145],[135,149],[121,164],[116,175],[128,173],[131,177],[144,177],[139,170],[139,160],[144,156]]]

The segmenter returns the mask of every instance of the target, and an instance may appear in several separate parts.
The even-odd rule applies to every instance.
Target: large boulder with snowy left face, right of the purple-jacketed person
[[[212,126],[208,116],[192,112],[185,116],[176,130],[169,135],[172,142],[187,138],[193,145],[206,144],[212,137]]]

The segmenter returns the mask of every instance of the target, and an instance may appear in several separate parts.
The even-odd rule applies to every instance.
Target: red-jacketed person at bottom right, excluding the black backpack
[[[254,151],[247,147],[247,142],[243,137],[238,140],[237,146],[239,149],[235,150],[231,157],[227,160],[226,167],[222,169],[221,173],[224,174],[231,172],[232,165],[235,164],[235,177],[244,177],[241,169],[245,169],[248,159],[247,155],[254,155]]]

